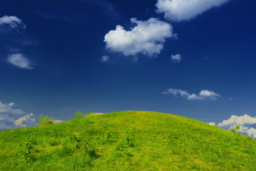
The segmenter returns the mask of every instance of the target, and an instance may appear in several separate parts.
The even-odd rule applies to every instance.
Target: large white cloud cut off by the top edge
[[[230,0],[158,0],[157,13],[165,13],[171,21],[186,21],[195,18],[212,7],[221,6]]]

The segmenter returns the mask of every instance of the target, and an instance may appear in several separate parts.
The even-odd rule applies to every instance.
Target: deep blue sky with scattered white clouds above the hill
[[[0,1],[0,130],[155,111],[256,138],[256,1]]]

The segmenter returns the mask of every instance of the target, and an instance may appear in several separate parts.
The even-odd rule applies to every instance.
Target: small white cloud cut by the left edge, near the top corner
[[[15,16],[3,16],[0,18],[0,26],[8,26],[10,28],[20,28],[24,30],[26,25],[21,21],[21,19]]]

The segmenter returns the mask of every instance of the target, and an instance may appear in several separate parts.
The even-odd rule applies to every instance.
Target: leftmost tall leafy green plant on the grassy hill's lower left
[[[22,157],[25,158],[26,162],[35,160],[34,155],[32,153],[34,145],[36,144],[35,136],[37,136],[36,132],[32,133],[30,139],[26,141],[25,152],[22,153]]]

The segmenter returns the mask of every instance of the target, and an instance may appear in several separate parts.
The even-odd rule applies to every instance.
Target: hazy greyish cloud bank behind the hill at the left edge
[[[26,113],[21,109],[14,109],[14,103],[1,103],[0,101],[0,130],[35,125],[33,113]]]

